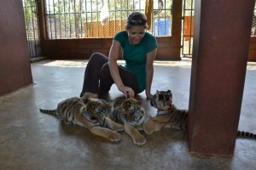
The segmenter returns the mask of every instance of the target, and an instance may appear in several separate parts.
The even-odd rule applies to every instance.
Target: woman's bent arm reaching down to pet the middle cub
[[[113,43],[108,55],[108,65],[109,65],[110,74],[113,78],[113,82],[116,84],[117,88],[119,88],[119,91],[123,92],[126,97],[133,98],[134,91],[123,84],[122,79],[119,75],[117,60],[119,58],[120,47],[121,47],[121,44],[118,41],[113,40]]]

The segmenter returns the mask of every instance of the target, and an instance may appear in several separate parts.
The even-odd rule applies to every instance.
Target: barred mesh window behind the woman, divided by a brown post
[[[45,0],[48,38],[113,37],[125,30],[128,14],[145,12],[145,3],[145,0]],[[107,13],[102,10],[104,4],[108,6]],[[153,7],[149,32],[154,36],[171,36],[172,0],[156,0]],[[101,13],[108,18],[103,25]]]

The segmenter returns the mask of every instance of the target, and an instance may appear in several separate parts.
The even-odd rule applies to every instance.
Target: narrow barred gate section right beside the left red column
[[[40,32],[38,25],[38,3],[37,0],[22,0],[26,21],[26,38],[30,58],[41,55]]]

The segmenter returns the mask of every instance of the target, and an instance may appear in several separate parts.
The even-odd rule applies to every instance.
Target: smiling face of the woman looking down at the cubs
[[[127,30],[128,38],[131,44],[135,45],[141,42],[145,36],[145,31],[144,26],[131,26],[131,28]]]

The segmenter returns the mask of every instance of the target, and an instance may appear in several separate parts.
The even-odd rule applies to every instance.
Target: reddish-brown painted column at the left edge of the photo
[[[0,1],[0,96],[32,84],[22,1]]]

